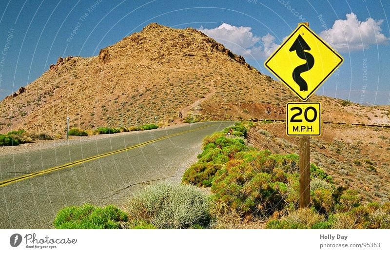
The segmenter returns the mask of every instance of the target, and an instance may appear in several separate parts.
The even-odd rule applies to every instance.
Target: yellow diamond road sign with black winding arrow
[[[342,62],[324,40],[300,24],[264,65],[306,101]]]

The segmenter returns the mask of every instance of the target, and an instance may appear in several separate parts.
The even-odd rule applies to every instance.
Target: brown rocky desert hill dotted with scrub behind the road
[[[389,107],[313,96],[330,122],[388,124]],[[59,58],[41,77],[0,102],[0,133],[63,135],[71,127],[129,127],[196,120],[284,119],[297,101],[280,82],[193,29],[156,23],[91,58]]]

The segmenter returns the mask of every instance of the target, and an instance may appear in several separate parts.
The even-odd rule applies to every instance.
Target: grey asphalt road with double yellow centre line
[[[203,137],[232,124],[195,123],[0,156],[0,229],[53,228],[56,213],[70,205],[122,207],[145,184],[179,181]]]

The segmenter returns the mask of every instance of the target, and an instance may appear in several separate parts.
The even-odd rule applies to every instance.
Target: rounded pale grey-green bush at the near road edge
[[[191,185],[149,186],[133,195],[127,211],[158,229],[183,229],[210,223],[210,198]]]

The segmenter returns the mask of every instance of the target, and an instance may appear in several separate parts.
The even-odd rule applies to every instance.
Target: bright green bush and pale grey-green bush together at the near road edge
[[[211,222],[213,202],[195,186],[162,183],[148,186],[126,203],[65,207],[53,222],[57,229],[202,229]]]

